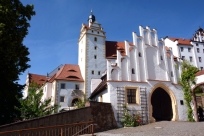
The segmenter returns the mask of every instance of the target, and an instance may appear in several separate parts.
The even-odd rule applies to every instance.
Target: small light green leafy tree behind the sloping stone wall
[[[57,105],[51,105],[51,98],[42,101],[43,90],[38,88],[36,83],[32,83],[28,88],[28,96],[19,100],[21,107],[16,109],[21,112],[23,120],[50,115],[58,109]]]

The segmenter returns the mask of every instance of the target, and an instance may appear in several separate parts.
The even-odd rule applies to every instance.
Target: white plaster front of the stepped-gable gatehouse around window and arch
[[[183,92],[178,85],[180,63],[174,60],[171,50],[165,49],[165,43],[158,40],[157,31],[149,27],[139,27],[140,36],[133,32],[133,44],[124,41],[125,54],[117,50],[117,57],[107,58],[107,89],[102,89],[91,96],[93,100],[110,102],[117,118],[118,96],[117,88],[134,88],[137,91],[136,103],[128,104],[127,96],[125,103],[128,108],[142,110],[140,89],[147,92],[148,120],[155,121],[152,117],[151,95],[156,88],[163,88],[170,96],[173,110],[172,120],[187,120],[187,108]],[[99,85],[100,86],[100,85]],[[96,89],[97,90],[97,89]],[[95,91],[96,91],[95,90]],[[95,92],[94,92],[95,93]]]

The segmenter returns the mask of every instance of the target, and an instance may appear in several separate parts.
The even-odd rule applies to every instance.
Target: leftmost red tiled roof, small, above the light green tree
[[[31,82],[36,82],[37,84],[39,84],[40,86],[42,86],[45,82],[46,82],[46,76],[44,75],[37,75],[37,74],[28,74],[29,76],[29,83]]]

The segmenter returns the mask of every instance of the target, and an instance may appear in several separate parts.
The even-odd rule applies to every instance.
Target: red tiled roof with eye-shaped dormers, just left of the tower
[[[73,64],[65,64],[51,77],[49,82],[53,82],[54,80],[84,81],[79,66]]]

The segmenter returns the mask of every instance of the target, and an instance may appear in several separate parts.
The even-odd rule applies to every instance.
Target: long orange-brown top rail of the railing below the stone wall
[[[73,123],[73,124],[63,124],[63,125],[56,125],[56,126],[46,126],[46,127],[38,127],[38,128],[4,131],[4,132],[0,132],[0,135],[8,134],[8,133],[15,133],[15,132],[22,133],[23,131],[33,131],[33,130],[42,130],[42,129],[50,129],[50,128],[60,128],[60,127],[66,127],[66,126],[77,126],[77,125],[83,125],[83,124],[85,125],[85,124],[93,124],[93,123],[94,123],[93,121],[89,121],[89,122],[81,122],[81,123]],[[94,132],[94,130],[93,130],[93,132]]]

